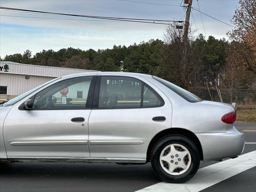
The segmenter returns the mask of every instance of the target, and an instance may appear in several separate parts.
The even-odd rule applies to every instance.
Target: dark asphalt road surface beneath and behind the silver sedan
[[[256,151],[256,132],[254,131],[256,123],[236,123],[236,128],[246,130],[244,133],[248,144],[243,154],[254,153]],[[222,162],[201,162],[196,176],[203,170],[207,174],[214,169],[211,166],[218,165],[218,163]],[[219,176],[225,176],[225,174],[227,173],[224,170]],[[198,184],[199,188],[203,189],[200,191],[255,192],[256,167],[234,176],[228,176],[227,179],[207,187],[206,183]],[[4,164],[0,169],[0,192],[132,192],[154,184],[164,185],[168,190],[172,187],[171,184],[166,184],[155,176],[149,163],[128,166],[115,163],[12,163]],[[188,184],[179,184],[179,187],[186,188],[186,186]],[[158,191],[166,190],[158,188]]]

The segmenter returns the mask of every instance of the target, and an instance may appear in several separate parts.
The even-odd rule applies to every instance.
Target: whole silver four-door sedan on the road
[[[0,162],[151,162],[166,182],[244,148],[230,104],[156,76],[88,72],[54,79],[0,107]]]

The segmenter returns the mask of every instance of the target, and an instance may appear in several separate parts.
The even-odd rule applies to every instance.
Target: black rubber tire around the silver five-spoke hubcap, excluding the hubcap
[[[180,144],[186,147],[190,152],[191,164],[188,170],[183,174],[180,174],[180,175],[168,174],[166,171],[164,171],[164,169],[160,164],[160,154],[162,150],[164,150],[164,148],[170,144]],[[156,144],[152,149],[150,160],[156,175],[161,180],[169,183],[183,183],[190,180],[196,174],[200,164],[200,156],[199,156],[199,152],[198,152],[198,148],[196,147],[196,144],[189,138],[182,135],[178,135],[178,134],[169,135],[158,140],[158,142],[156,142]]]

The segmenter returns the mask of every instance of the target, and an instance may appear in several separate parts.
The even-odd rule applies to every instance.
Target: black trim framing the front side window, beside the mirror
[[[93,76],[79,76],[79,77],[74,77],[74,78],[83,78],[83,77],[92,77],[92,80],[91,80],[91,83],[90,83],[90,86],[89,86],[89,90],[88,90],[88,95],[87,95],[87,99],[86,99],[86,104],[84,105],[84,108],[70,108],[70,109],[26,109],[25,106],[24,106],[24,101],[22,104],[20,104],[20,106],[18,107],[19,110],[88,110],[88,109],[92,109],[92,100],[93,100],[93,96],[94,96],[94,89],[95,89],[95,85],[96,85],[96,78],[97,76],[96,75],[93,75]],[[62,81],[65,81],[65,80],[71,80],[71,79],[74,79],[74,78],[69,78],[69,79],[64,79]],[[57,84],[57,83],[60,83],[62,81],[58,81],[54,84]],[[50,86],[54,85],[54,84],[51,84]],[[46,88],[48,88],[49,86],[47,86]],[[45,90],[46,88],[40,90],[39,92]],[[38,94],[39,92],[37,92],[36,94]],[[28,99],[31,99],[33,101],[33,104],[34,104],[34,100],[35,100],[35,96],[36,94],[34,94],[33,96],[31,96],[30,98]]]

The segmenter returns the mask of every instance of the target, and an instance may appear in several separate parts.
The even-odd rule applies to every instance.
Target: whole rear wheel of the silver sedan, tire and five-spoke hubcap
[[[188,151],[187,155],[186,151]],[[186,136],[178,134],[158,140],[152,149],[150,160],[155,174],[169,183],[183,183],[190,180],[200,164],[196,144]]]

